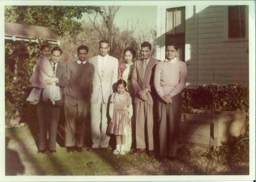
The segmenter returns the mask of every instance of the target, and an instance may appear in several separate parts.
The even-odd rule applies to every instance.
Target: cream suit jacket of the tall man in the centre
[[[93,76],[93,94],[91,95],[91,103],[95,104],[99,100],[99,93],[102,92],[103,103],[107,104],[110,95],[115,90],[115,84],[118,79],[118,59],[107,55],[107,62],[101,76],[98,67],[98,56],[89,59],[93,64],[95,72]]]

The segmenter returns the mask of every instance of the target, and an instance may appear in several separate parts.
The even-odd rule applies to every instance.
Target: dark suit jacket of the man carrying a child
[[[60,87],[60,96],[62,99],[59,101],[55,101],[55,106],[62,106],[63,105],[63,88],[68,85],[68,73],[66,71],[66,67],[58,64],[56,68],[56,77],[59,78],[59,82],[56,86]]]

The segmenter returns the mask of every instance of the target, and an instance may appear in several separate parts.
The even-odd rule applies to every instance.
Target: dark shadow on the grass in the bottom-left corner
[[[8,148],[9,140],[8,137],[5,137],[5,175],[22,175],[25,172],[25,167],[18,152]]]

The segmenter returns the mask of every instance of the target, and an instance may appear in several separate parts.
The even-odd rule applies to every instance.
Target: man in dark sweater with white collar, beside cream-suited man
[[[87,45],[77,49],[78,60],[68,64],[68,86],[64,92],[65,146],[67,152],[82,152],[85,122],[90,109],[94,66],[87,61]]]

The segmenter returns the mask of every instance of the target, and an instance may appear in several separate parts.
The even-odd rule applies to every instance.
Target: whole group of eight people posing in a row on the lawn
[[[88,59],[89,49],[81,45],[77,49],[79,59],[69,62],[65,68],[58,64],[62,55],[59,47],[54,47],[48,58],[49,47],[42,46],[30,79],[34,89],[27,98],[37,104],[38,152],[47,149],[56,152],[57,126],[63,105],[65,146],[69,153],[82,152],[85,122],[90,112],[93,144],[89,151],[107,150],[110,136],[115,135],[114,154],[126,154],[133,143],[135,155],[154,155],[153,127],[157,118],[160,156],[175,157],[181,91],[187,78],[185,62],[176,58],[178,49],[175,44],[166,45],[166,59],[158,61],[151,56],[151,44],[143,42],[141,59],[133,62],[136,52],[127,47],[123,52],[124,61],[118,64],[118,59],[108,55],[108,41],[102,40],[99,55]],[[56,92],[60,97],[50,96]],[[155,106],[158,112],[153,109]]]

